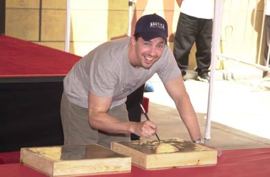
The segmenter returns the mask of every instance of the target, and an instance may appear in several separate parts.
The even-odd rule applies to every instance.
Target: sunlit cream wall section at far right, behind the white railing
[[[221,22],[220,53],[241,61],[263,65],[264,31],[261,33],[264,0],[225,0]],[[256,10],[256,11],[255,11]],[[261,36],[262,35],[262,36]],[[262,39],[262,41],[260,41]],[[260,42],[262,46],[260,49]],[[249,75],[262,72],[250,65],[224,60],[216,68]]]

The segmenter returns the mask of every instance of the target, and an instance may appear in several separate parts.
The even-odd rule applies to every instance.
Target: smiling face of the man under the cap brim
[[[162,37],[156,37],[145,41],[139,37],[137,41],[133,40],[137,56],[137,64],[134,67],[143,67],[149,69],[162,55],[165,47],[165,40]]]

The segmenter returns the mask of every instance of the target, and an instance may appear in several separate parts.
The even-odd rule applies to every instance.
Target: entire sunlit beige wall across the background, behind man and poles
[[[69,52],[84,56],[107,40],[127,36],[128,2],[128,0],[70,0]],[[258,57],[264,1],[223,0],[222,4],[219,52],[247,62],[262,64],[262,60],[259,61]],[[255,9],[257,13],[254,25]],[[66,0],[6,0],[6,35],[64,51],[66,13]],[[167,20],[169,46],[173,49],[173,34],[180,13],[176,1],[137,0],[133,5],[132,34],[136,20],[150,13],[157,13]],[[189,69],[196,67],[195,52],[196,48],[193,47]],[[232,60],[217,60],[215,67],[244,74],[260,72]]]

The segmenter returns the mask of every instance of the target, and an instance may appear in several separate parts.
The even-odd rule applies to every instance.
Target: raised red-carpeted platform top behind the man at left
[[[0,35],[0,77],[65,76],[81,59],[33,42]]]

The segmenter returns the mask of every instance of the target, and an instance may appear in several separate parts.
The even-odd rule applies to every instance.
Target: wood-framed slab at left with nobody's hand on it
[[[48,176],[131,172],[131,157],[97,144],[22,148],[20,163]]]

